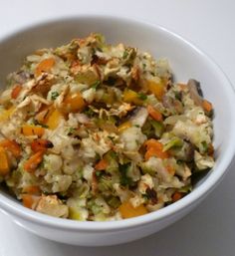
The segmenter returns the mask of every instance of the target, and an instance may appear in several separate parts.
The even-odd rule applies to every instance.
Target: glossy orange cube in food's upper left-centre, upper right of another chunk
[[[66,113],[76,113],[80,112],[84,109],[85,107],[85,101],[81,95],[80,92],[77,92],[75,94],[68,94],[64,100],[64,105]]]

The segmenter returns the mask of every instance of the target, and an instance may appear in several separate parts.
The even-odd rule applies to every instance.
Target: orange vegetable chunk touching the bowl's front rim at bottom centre
[[[126,219],[146,214],[147,210],[143,204],[133,207],[129,201],[125,201],[119,206],[119,212],[121,217]]]

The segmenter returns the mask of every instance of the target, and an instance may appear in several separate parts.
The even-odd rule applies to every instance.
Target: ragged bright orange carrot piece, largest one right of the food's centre
[[[161,159],[169,157],[167,151],[163,151],[163,145],[161,142],[157,141],[154,138],[150,138],[145,142],[146,152],[144,155],[145,160],[148,160],[151,156],[156,156]]]

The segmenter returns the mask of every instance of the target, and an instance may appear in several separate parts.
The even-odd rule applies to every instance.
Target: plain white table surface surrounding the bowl
[[[0,36],[33,21],[62,15],[133,17],[160,24],[189,39],[212,57],[235,85],[234,12],[234,0],[2,0]],[[217,188],[182,220],[154,235],[118,246],[88,248],[55,243],[32,235],[0,213],[0,255],[234,256],[234,167],[235,161]]]

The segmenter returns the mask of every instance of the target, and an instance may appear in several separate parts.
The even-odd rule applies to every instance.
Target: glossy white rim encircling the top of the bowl
[[[107,14],[80,14],[77,16],[61,16],[61,17],[54,17],[41,21],[32,22],[30,25],[23,25],[19,29],[15,29],[11,31],[11,33],[7,35],[0,36],[0,44],[2,41],[8,40],[15,35],[18,35],[22,32],[41,27],[47,24],[53,24],[57,22],[68,22],[68,21],[79,21],[79,20],[113,20],[120,23],[128,23],[130,25],[139,25],[142,27],[147,27],[153,30],[158,30],[161,33],[168,34],[174,40],[184,44],[186,47],[194,51],[197,55],[206,61],[210,67],[216,71],[217,75],[220,77],[220,80],[225,85],[224,90],[226,91],[226,95],[228,97],[228,101],[231,107],[235,109],[235,91],[232,87],[231,82],[223,73],[221,68],[210,58],[207,54],[205,54],[202,50],[198,49],[194,44],[190,41],[184,39],[179,34],[172,32],[158,24],[149,23],[143,20],[136,20],[135,18],[126,18],[124,16],[117,16],[117,15],[107,15]],[[234,100],[233,100],[234,99]],[[231,113],[232,117],[235,120],[235,113]],[[231,130],[235,130],[235,122],[230,123]],[[232,133],[232,132],[231,132]],[[231,139],[230,141],[235,141],[235,132],[234,134],[230,134]],[[235,154],[235,143],[230,143],[225,150],[225,156],[221,160],[220,164],[216,166],[216,171],[212,171],[207,179],[200,184],[196,190],[189,193],[187,196],[183,197],[179,201],[168,205],[162,209],[159,209],[154,212],[147,213],[142,216],[123,219],[123,220],[114,220],[114,221],[75,221],[70,219],[61,219],[57,217],[52,217],[46,214],[42,214],[31,209],[24,207],[23,205],[19,204],[18,202],[7,198],[3,194],[0,194],[0,206],[2,207],[3,212],[10,213],[16,217],[20,217],[26,221],[35,222],[42,226],[47,227],[55,227],[57,229],[63,230],[70,230],[70,231],[77,231],[83,230],[88,232],[96,232],[96,231],[109,231],[109,230],[121,230],[126,228],[136,228],[140,225],[144,224],[151,224],[152,222],[159,221],[162,218],[169,217],[171,214],[175,212],[182,212],[185,207],[188,207],[195,203],[195,201],[199,201],[202,199],[207,193],[209,193],[214,186],[222,179],[226,170],[228,169],[232,158]]]

